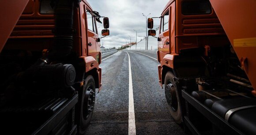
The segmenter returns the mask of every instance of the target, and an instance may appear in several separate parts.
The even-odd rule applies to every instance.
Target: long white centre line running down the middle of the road
[[[124,51],[126,52],[126,51]],[[134,113],[134,101],[133,101],[133,89],[132,89],[132,68],[131,60],[128,52],[129,58],[129,119],[128,119],[128,135],[136,135],[136,125],[135,125],[135,113]]]

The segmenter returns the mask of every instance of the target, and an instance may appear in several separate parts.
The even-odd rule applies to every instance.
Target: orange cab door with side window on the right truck
[[[161,17],[159,36],[158,36],[158,50],[160,54],[159,55],[160,60],[162,60],[167,53],[170,53],[169,15],[170,15],[169,8],[167,8]]]

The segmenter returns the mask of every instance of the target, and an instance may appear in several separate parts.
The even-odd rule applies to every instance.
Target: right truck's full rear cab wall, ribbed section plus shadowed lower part
[[[175,53],[180,53],[182,49],[200,48],[205,45],[213,47],[230,44],[213,9],[211,14],[183,15],[183,1],[188,0],[176,0]]]

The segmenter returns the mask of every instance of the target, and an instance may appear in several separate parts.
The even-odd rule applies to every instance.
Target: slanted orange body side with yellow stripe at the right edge
[[[254,89],[256,89],[256,0],[210,0]]]

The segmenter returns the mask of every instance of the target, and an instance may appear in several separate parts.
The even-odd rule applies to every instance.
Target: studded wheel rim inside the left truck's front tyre
[[[83,119],[87,120],[93,112],[95,103],[95,92],[90,86],[86,90],[83,103]]]

